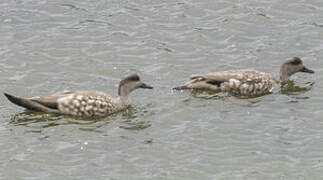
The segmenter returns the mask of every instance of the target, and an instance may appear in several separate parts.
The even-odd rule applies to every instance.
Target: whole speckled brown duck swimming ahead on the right
[[[174,90],[208,90],[211,92],[227,92],[237,96],[262,96],[272,93],[276,85],[284,85],[290,76],[297,72],[314,73],[303,65],[299,57],[287,58],[280,66],[279,79],[269,73],[257,70],[227,70],[194,75],[183,86]]]

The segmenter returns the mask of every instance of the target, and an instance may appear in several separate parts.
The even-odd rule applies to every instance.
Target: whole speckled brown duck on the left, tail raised
[[[137,74],[126,75],[119,83],[118,97],[99,91],[60,91],[36,97],[4,95],[12,103],[28,110],[81,117],[107,116],[130,106],[129,94],[138,88],[153,89],[141,82]]]

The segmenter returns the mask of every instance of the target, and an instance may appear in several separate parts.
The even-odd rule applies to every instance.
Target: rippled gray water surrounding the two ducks
[[[103,119],[32,113],[0,95],[0,179],[323,178],[323,1],[0,0],[0,34],[1,94],[115,96],[131,72],[155,87]],[[277,75],[291,56],[316,74],[286,91],[171,91],[218,70]]]

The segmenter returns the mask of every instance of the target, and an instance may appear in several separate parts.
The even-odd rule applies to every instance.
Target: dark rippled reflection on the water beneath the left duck
[[[121,116],[120,128],[128,130],[142,130],[151,126],[149,121],[142,120],[146,114],[151,114],[147,107],[131,106],[121,112],[117,112],[106,117],[77,117],[70,115],[56,115],[42,112],[25,110],[14,115],[10,123],[16,126],[26,126],[32,128],[50,128],[60,125],[80,125],[80,130],[96,131],[107,125],[117,116]],[[100,131],[98,131],[100,132]]]

